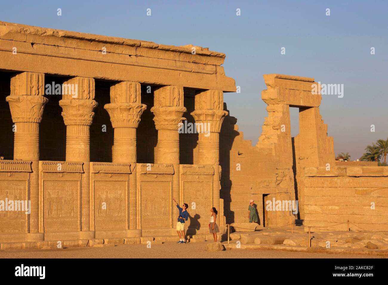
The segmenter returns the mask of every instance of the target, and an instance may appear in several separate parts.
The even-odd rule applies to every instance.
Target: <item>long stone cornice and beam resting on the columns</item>
[[[20,56],[15,57],[14,48]],[[0,57],[0,69],[9,71],[236,92],[234,79],[225,76],[221,66],[225,55],[191,45],[174,47],[0,22]]]

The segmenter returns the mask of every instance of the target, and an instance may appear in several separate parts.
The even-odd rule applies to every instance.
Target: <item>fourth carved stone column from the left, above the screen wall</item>
[[[183,88],[177,86],[160,87],[154,92],[154,122],[158,130],[158,147],[155,163],[179,164],[178,124],[183,116]]]

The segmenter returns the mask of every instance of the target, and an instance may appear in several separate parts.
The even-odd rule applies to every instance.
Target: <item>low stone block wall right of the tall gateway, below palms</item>
[[[388,167],[306,168],[304,184],[312,230],[388,230]]]

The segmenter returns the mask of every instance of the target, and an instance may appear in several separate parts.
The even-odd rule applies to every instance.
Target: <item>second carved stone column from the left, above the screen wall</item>
[[[63,84],[68,86],[68,94],[62,94],[62,100],[59,101],[66,125],[66,161],[89,162],[90,125],[94,117],[93,110],[98,105],[93,100],[94,78],[74,77]]]

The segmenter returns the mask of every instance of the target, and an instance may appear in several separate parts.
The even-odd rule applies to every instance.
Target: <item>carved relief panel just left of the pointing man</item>
[[[142,181],[140,199],[143,229],[171,227],[171,182]]]

